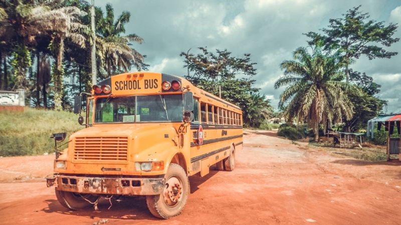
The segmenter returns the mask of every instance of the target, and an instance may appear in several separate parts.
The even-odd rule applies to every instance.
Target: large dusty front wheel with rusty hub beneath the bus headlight
[[[166,184],[158,195],[146,195],[146,204],[152,215],[168,219],[179,215],[189,195],[189,180],[184,169],[171,163],[164,175]]]

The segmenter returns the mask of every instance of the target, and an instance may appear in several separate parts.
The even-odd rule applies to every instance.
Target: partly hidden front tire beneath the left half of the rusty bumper
[[[98,198],[97,196],[94,196],[92,194],[81,194],[81,195],[84,196],[86,199],[90,200],[91,202],[95,202],[96,199]],[[60,204],[72,210],[78,210],[80,208],[85,208],[92,205],[87,200],[83,199],[81,195],[76,192],[69,192],[56,189],[56,197],[57,200],[60,202]]]

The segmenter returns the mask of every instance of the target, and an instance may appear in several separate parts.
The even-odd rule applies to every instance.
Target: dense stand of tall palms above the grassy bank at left
[[[47,99],[53,95],[57,109],[62,109],[63,102],[70,101],[76,92],[88,91],[92,83],[91,68],[87,65],[90,64],[90,46],[94,41],[89,28],[90,9],[90,4],[82,0],[0,1],[0,59],[11,58],[10,70],[13,72],[3,84],[6,89],[26,88],[27,101],[35,102],[36,106],[47,107]],[[126,72],[131,66],[146,69],[148,65],[143,62],[144,56],[132,48],[132,41],[141,43],[143,39],[135,34],[124,34],[130,13],[124,11],[114,19],[114,10],[107,4],[105,14],[104,17],[102,9],[96,7],[98,77],[106,77],[105,70],[110,74],[110,70]],[[39,59],[37,65],[32,64],[31,55]],[[51,69],[50,83],[43,72],[37,71],[39,67],[44,68],[42,61],[49,61],[49,56],[57,63],[57,69]],[[77,86],[63,85],[65,72],[62,67],[66,61],[71,65],[66,76],[78,75]],[[50,63],[47,65],[44,70],[50,71]],[[72,69],[77,71],[70,73]],[[7,66],[4,70],[8,71]],[[66,91],[67,88],[70,89]]]

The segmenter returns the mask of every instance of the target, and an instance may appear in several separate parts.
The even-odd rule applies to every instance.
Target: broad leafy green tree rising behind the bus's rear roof
[[[226,49],[217,49],[216,53],[208,51],[206,47],[199,49],[202,53],[197,55],[185,52],[180,54],[185,57],[184,67],[188,68],[185,77],[189,81],[216,96],[219,96],[220,86],[222,98],[242,108],[245,126],[259,127],[264,119],[272,116],[270,102],[259,93],[258,88],[252,87],[255,80],[251,77],[256,74],[256,63],[251,62],[250,54],[235,57]]]

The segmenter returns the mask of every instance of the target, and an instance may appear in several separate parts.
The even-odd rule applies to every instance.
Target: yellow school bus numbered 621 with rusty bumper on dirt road
[[[56,152],[55,173],[47,177],[67,208],[96,208],[100,197],[146,195],[150,212],[169,218],[185,205],[188,176],[204,176],[212,165],[235,167],[243,144],[241,108],[182,77],[123,73],[87,95],[86,119],[79,118],[86,128]],[[80,101],[76,97],[76,112]]]

